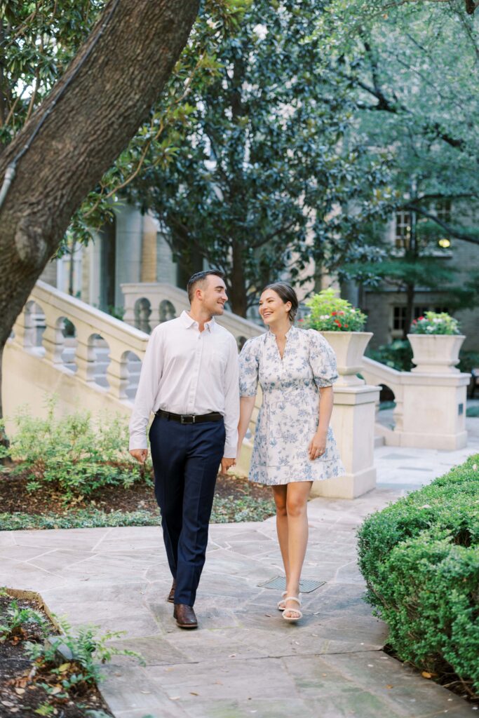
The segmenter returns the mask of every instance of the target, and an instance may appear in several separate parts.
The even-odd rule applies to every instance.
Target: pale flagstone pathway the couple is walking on
[[[39,592],[75,625],[125,630],[116,645],[147,665],[115,658],[102,692],[117,718],[433,718],[475,708],[422,679],[381,647],[386,626],[363,602],[355,531],[368,513],[479,452],[381,447],[378,488],[354,501],[309,505],[304,620],[276,610],[258,584],[281,573],[274,519],[213,525],[195,609],[199,630],[176,628],[165,601],[171,579],[157,527],[0,533],[0,585]]]

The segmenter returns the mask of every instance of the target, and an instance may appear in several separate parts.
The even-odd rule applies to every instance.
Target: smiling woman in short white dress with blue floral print
[[[329,428],[335,355],[315,330],[293,326],[298,299],[289,284],[269,284],[259,314],[268,331],[246,342],[240,354],[238,454],[263,391],[254,438],[250,481],[273,487],[276,528],[286,574],[278,603],[283,617],[302,617],[299,579],[307,546],[307,498],[313,481],[345,473]]]

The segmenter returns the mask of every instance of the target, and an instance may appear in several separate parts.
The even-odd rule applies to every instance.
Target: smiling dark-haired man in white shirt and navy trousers
[[[233,466],[238,442],[238,350],[216,324],[226,287],[219,271],[193,274],[190,312],[155,327],[148,342],[130,421],[130,453],[147,459],[173,584],[168,600],[180,628],[197,628],[193,605],[205,564],[216,475]]]

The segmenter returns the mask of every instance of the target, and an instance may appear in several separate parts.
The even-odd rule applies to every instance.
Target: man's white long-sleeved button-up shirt
[[[238,443],[238,348],[233,335],[212,319],[200,327],[187,312],[154,328],[141,366],[130,420],[130,449],[147,448],[152,411],[210,414],[225,419],[224,456]]]

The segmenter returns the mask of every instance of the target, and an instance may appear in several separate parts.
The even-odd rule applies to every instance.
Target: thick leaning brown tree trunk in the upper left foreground
[[[134,136],[187,41],[198,0],[110,0],[67,72],[0,155],[0,351],[70,218]],[[42,125],[39,126],[39,123]]]

